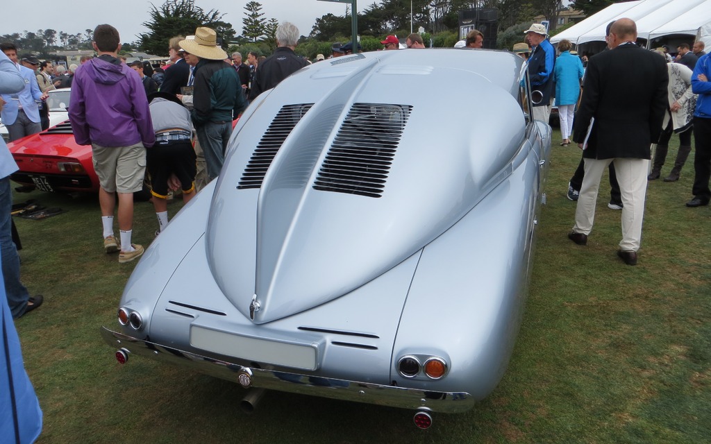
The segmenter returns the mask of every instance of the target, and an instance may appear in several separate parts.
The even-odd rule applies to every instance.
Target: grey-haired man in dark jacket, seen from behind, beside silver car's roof
[[[296,43],[299,42],[299,28],[285,21],[277,27],[277,50],[274,55],[260,63],[255,72],[255,80],[250,90],[250,100],[266,90],[271,90],[279,82],[309,65],[306,59],[294,54]]]

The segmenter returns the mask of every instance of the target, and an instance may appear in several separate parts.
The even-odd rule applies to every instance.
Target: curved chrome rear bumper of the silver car
[[[117,347],[119,352],[127,356],[136,354],[189,367],[213,377],[237,382],[245,389],[259,387],[380,406],[424,408],[442,413],[468,411],[475,403],[474,398],[466,392],[424,391],[368,382],[326,379],[270,369],[255,369],[139,340],[108,330],[106,327],[101,327],[101,335],[108,345]]]

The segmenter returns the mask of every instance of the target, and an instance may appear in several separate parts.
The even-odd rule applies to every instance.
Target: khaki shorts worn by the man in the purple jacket
[[[107,193],[136,193],[143,189],[146,175],[146,148],[92,144],[92,161],[99,184]]]

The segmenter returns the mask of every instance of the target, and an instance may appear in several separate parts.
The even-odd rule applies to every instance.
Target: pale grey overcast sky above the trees
[[[217,9],[225,14],[223,20],[232,23],[237,35],[242,33],[242,18],[245,17],[245,4],[249,0],[196,0],[196,6],[205,11]],[[36,32],[38,29],[53,29],[59,33],[84,33],[87,28],[94,29],[101,23],[109,23],[119,30],[122,43],[138,40],[137,35],[148,31],[141,23],[149,19],[151,3],[157,8],[164,0],[70,0],[58,3],[56,0],[14,0],[3,1],[2,26],[0,34]],[[302,36],[311,33],[316,18],[333,13],[343,16],[346,12],[344,3],[319,0],[262,0],[264,18],[276,18],[279,23],[290,21],[299,28]],[[373,0],[361,0],[358,9],[373,4]],[[350,5],[350,3],[348,3]]]

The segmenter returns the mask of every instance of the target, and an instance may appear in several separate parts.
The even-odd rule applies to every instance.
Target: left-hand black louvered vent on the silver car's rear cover
[[[287,136],[291,134],[294,126],[299,123],[301,117],[304,117],[304,114],[312,106],[314,106],[312,103],[295,104],[284,105],[282,109],[279,109],[277,117],[272,120],[272,124],[269,125],[264,136],[262,136],[262,140],[257,144],[250,162],[247,163],[247,168],[242,173],[240,183],[237,184],[238,190],[260,188],[262,186],[262,180],[264,180],[264,175],[267,174],[274,156],[277,156],[277,152],[282,147]]]

